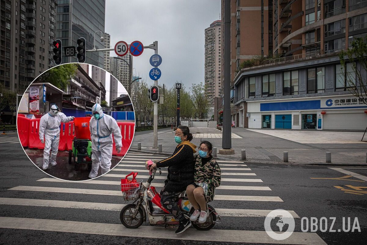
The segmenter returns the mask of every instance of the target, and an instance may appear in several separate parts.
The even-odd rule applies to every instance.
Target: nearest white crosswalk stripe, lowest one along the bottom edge
[[[82,234],[115,235],[139,238],[188,239],[193,241],[217,241],[239,243],[276,244],[265,231],[209,230],[206,232],[190,230],[190,235],[178,236],[164,227],[141,226],[139,229],[127,229],[121,224],[91,223],[68,220],[31,219],[20,217],[0,217],[1,228],[59,231]],[[302,241],[302,243],[300,243]],[[293,233],[281,244],[326,244],[316,233]]]

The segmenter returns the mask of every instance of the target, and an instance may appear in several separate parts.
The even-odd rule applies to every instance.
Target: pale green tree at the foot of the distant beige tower
[[[205,93],[203,83],[193,84],[191,87],[192,102],[194,106],[194,116],[199,119],[204,119],[208,113],[209,101]]]

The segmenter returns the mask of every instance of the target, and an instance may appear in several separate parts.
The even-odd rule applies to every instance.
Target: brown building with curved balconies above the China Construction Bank
[[[274,0],[273,23],[273,53],[280,58],[241,69],[231,80],[238,126],[364,130],[367,106],[350,90],[367,71],[358,61],[342,68],[338,53],[367,35],[367,2]],[[240,42],[241,49],[247,45]]]

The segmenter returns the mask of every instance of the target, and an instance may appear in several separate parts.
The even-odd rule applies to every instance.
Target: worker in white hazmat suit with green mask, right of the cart
[[[118,153],[122,147],[121,131],[116,120],[112,116],[103,114],[99,104],[93,105],[92,114],[89,122],[92,139],[92,170],[89,173],[91,179],[97,177],[99,165],[101,165],[102,174],[110,170],[113,147],[112,134]]]

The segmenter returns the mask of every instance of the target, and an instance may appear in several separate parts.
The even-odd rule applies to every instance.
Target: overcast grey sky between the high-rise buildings
[[[105,32],[111,35],[111,48],[118,41],[130,45],[138,40],[144,46],[158,41],[163,61],[159,83],[172,86],[182,81],[190,87],[204,82],[204,30],[220,13],[220,0],[106,0]],[[151,85],[148,73],[153,54],[154,50],[145,49],[133,58],[134,75]],[[114,51],[110,55],[117,56]]]

